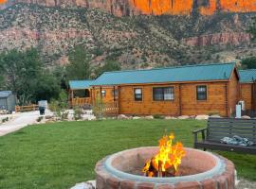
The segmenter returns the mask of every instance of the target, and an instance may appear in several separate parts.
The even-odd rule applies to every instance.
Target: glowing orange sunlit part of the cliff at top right
[[[130,4],[143,14],[187,15],[192,12],[193,0],[130,0]],[[229,12],[256,11],[256,0],[207,0],[199,7],[203,15],[212,15],[217,9]]]

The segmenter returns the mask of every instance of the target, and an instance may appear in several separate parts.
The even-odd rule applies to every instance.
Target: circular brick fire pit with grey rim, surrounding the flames
[[[233,189],[234,165],[229,160],[192,148],[179,166],[178,176],[149,178],[142,173],[144,164],[158,147],[128,149],[96,164],[97,189]]]

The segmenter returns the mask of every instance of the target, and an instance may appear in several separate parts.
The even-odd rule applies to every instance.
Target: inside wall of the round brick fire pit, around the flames
[[[152,156],[155,156],[158,150],[158,147],[137,148],[132,151],[127,150],[121,156],[114,158],[111,165],[121,172],[144,176],[141,170],[145,162],[151,159]],[[185,148],[185,150],[187,155],[182,159],[182,163],[175,177],[203,173],[216,165],[216,160],[208,153],[200,153],[198,155],[197,150],[195,151],[190,148]],[[174,176],[170,175],[170,177]]]

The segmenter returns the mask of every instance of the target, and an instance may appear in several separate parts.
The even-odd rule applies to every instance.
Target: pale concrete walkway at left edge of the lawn
[[[31,125],[36,122],[38,117],[38,111],[15,113],[9,122],[0,125],[0,136]]]

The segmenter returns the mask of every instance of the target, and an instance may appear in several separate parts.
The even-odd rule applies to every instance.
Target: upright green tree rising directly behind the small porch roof
[[[68,55],[69,64],[66,66],[66,79],[88,79],[90,77],[91,57],[84,48],[79,45]]]

